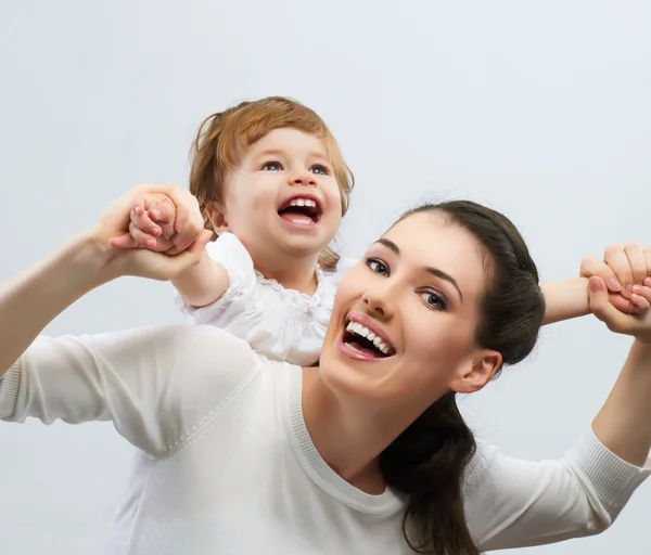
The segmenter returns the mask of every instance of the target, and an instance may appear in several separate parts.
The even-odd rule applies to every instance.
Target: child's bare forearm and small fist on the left
[[[163,194],[152,194],[131,210],[130,246],[158,253],[177,253],[174,241],[176,206]],[[228,288],[226,269],[213,260],[206,250],[201,261],[170,280],[182,299],[192,307],[205,307],[218,300]]]

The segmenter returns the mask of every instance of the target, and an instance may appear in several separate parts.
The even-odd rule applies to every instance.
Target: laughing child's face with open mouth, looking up
[[[240,160],[226,177],[222,212],[212,217],[215,229],[234,233],[260,266],[279,255],[318,255],[342,219],[323,141],[296,129],[276,129]]]

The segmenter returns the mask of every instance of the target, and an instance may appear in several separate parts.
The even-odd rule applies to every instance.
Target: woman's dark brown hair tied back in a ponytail
[[[515,364],[533,350],[545,314],[538,270],[526,244],[503,215],[470,201],[425,204],[412,214],[443,214],[470,231],[486,254],[487,288],[481,300],[476,344]],[[386,482],[409,498],[403,531],[409,546],[427,555],[477,555],[468,525],[462,486],[476,450],[472,430],[448,391],[380,456]]]

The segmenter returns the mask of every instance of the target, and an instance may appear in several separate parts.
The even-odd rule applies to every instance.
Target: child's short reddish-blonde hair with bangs
[[[346,166],[334,137],[326,122],[307,106],[282,96],[269,96],[218,112],[205,118],[192,143],[190,191],[197,198],[207,229],[215,231],[206,206],[224,206],[224,181],[227,172],[239,164],[239,149],[252,144],[275,129],[293,128],[323,140],[342,197],[342,216],[348,209],[355,178]],[[319,266],[334,270],[339,255],[326,247]]]

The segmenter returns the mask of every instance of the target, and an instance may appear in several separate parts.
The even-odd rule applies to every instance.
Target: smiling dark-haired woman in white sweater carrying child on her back
[[[196,263],[205,234],[177,257],[107,246],[137,194],[0,296],[0,416],[112,420],[140,449],[110,553],[535,545],[604,529],[647,477],[651,322],[617,312],[600,278],[593,311],[636,341],[592,429],[560,462],[475,453],[455,395],[528,354],[544,300],[515,229],[472,203],[422,207],[369,248],[340,287],[318,369],[269,361],[214,327],[36,338],[107,281]],[[188,218],[181,246],[196,236]],[[628,253],[631,267],[640,256]]]

